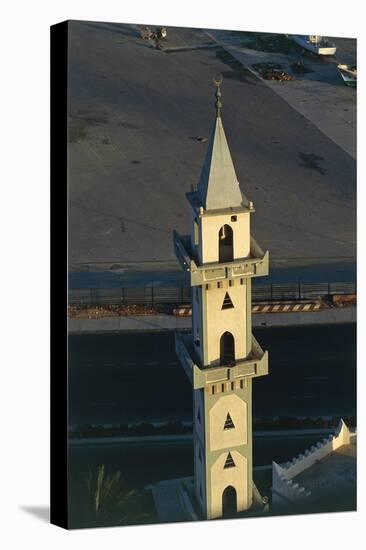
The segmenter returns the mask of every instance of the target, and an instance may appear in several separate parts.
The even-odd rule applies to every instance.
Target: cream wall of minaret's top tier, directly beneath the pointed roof
[[[237,221],[231,221],[231,215],[201,217],[199,260],[200,263],[219,261],[219,231],[227,224],[233,230],[234,259],[246,258],[250,252],[250,214],[241,212]],[[193,222],[192,222],[193,233]]]

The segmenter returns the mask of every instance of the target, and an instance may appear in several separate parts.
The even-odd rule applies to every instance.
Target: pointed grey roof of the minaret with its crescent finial
[[[236,177],[221,120],[220,80],[216,84],[216,120],[208,144],[197,192],[206,210],[235,208],[247,203]]]

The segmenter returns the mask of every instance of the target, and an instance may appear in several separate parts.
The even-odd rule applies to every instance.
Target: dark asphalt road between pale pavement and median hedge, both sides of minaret
[[[253,383],[254,416],[355,413],[355,325],[260,328],[270,374]],[[192,419],[192,388],[173,333],[69,337],[70,425]]]

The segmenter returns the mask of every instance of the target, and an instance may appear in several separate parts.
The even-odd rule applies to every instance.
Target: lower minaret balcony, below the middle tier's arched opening
[[[200,366],[190,332],[176,332],[175,351],[195,390],[211,384],[235,382],[268,374],[268,352],[262,350],[253,335],[252,350],[248,357],[237,359],[232,366]]]

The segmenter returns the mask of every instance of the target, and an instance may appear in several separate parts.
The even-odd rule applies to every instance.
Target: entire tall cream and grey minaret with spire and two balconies
[[[192,286],[192,331],[176,333],[176,353],[193,386],[195,493],[207,519],[252,505],[252,379],[268,374],[268,354],[251,323],[251,280],[268,274],[268,252],[250,235],[254,208],[227,144],[221,81],[197,190],[186,194],[191,234],[174,232]]]

